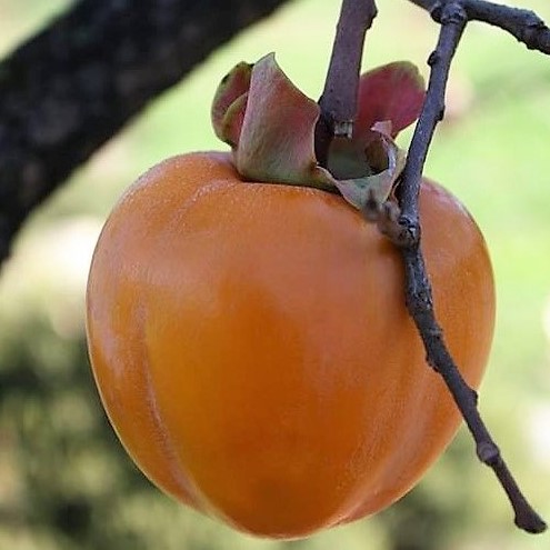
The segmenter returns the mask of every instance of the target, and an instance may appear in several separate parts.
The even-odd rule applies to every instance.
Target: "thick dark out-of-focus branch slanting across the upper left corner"
[[[72,170],[286,1],[81,0],[0,63],[0,262],[26,217]]]

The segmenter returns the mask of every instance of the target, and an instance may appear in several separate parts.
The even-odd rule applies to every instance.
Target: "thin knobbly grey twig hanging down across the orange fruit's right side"
[[[422,338],[428,362],[441,374],[476,441],[479,459],[493,469],[516,513],[516,524],[532,533],[546,530],[544,521],[532,509],[508,469],[499,448],[477,408],[477,393],[462,378],[450,356],[433,312],[432,292],[420,250],[418,198],[428,149],[437,123],[443,118],[444,91],[450,64],[468,23],[460,0],[446,2],[437,14],[441,23],[439,41],[429,58],[430,81],[422,113],[418,121],[399,190],[400,223],[410,234],[409,246],[401,248],[406,269],[407,307]]]

